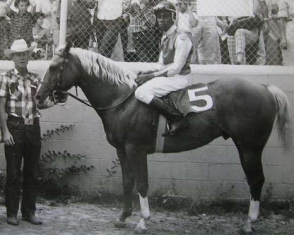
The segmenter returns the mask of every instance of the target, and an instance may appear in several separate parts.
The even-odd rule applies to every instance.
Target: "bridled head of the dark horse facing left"
[[[56,50],[49,68],[38,87],[35,100],[39,107],[44,106],[55,91],[67,91],[76,85],[77,71],[73,66],[73,55],[69,53],[71,45]]]

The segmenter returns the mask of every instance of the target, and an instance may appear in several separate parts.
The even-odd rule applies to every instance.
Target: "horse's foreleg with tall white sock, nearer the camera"
[[[137,191],[140,197],[141,219],[137,224],[135,232],[145,234],[147,232],[146,222],[150,218],[149,204],[147,198],[148,191],[148,170],[147,170],[147,154],[137,147],[130,147],[127,150],[127,156],[132,164],[135,172],[135,181],[137,183]]]

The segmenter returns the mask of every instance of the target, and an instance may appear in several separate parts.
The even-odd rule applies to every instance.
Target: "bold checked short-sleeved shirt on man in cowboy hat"
[[[6,113],[25,118],[25,124],[32,124],[33,118],[41,117],[33,97],[40,83],[37,73],[27,71],[25,77],[16,69],[0,75],[0,97],[6,97]]]

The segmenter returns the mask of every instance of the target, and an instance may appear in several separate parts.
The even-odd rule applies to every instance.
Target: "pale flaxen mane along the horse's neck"
[[[133,71],[121,67],[117,62],[111,59],[81,48],[71,48],[70,52],[79,58],[83,69],[90,76],[101,76],[101,79],[110,84],[120,85],[124,83],[130,87],[136,84],[135,78],[137,75]]]

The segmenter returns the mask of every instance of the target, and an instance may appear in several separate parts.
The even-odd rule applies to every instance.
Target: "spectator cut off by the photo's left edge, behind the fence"
[[[8,30],[9,23],[6,14],[13,0],[0,0],[0,60],[4,60],[4,49],[8,48]]]

